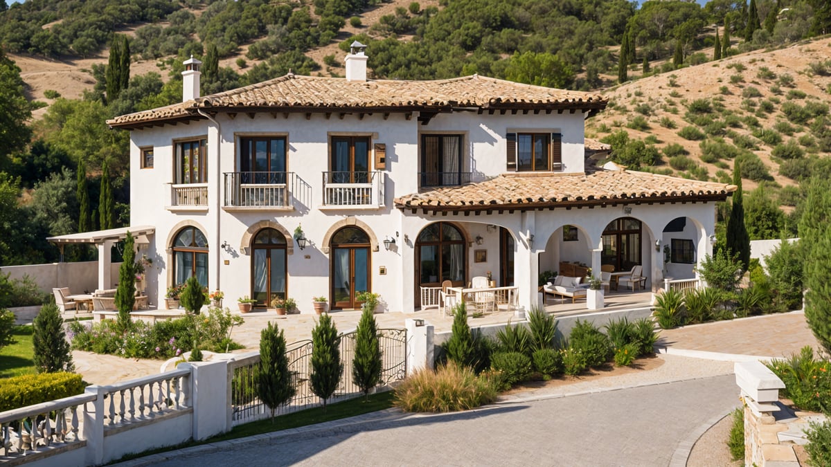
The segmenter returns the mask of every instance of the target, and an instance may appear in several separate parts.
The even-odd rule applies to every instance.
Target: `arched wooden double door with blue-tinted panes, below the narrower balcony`
[[[331,278],[332,308],[356,308],[358,293],[370,290],[370,239],[356,227],[340,229],[332,235]]]

